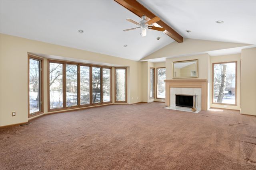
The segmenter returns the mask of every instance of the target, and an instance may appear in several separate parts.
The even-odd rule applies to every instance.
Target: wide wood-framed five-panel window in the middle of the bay
[[[111,103],[111,70],[48,60],[48,111]]]

